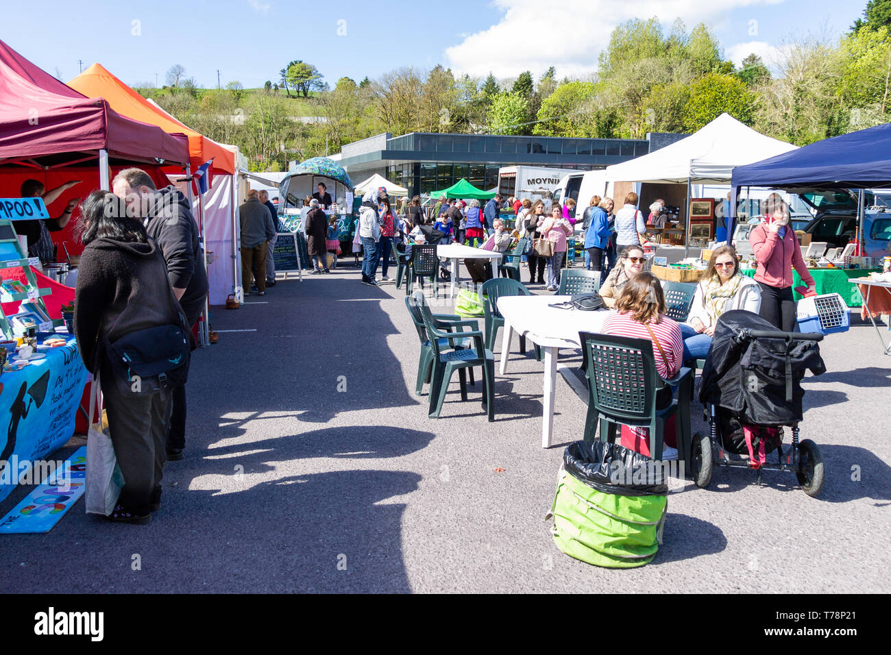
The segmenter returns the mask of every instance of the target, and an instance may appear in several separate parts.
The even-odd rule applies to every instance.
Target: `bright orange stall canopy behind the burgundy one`
[[[186,127],[166,111],[149,102],[142,95],[112,75],[101,64],[94,63],[77,78],[72,79],[69,86],[90,98],[104,98],[111,109],[128,119],[156,125],[168,134],[184,134],[189,139],[189,158],[192,170],[198,170],[201,164],[214,160],[217,171],[233,174],[235,172],[235,156],[233,151],[222,144],[200,135],[191,127]]]

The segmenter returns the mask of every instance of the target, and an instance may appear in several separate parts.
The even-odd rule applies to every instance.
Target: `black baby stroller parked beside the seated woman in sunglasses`
[[[691,444],[691,472],[699,487],[707,487],[718,464],[755,469],[759,484],[762,469],[794,471],[805,494],[820,493],[820,448],[810,439],[799,442],[798,423],[805,370],[826,372],[817,346],[822,339],[818,332],[779,332],[743,310],[721,316],[699,385],[710,434],[694,435]],[[782,443],[784,427],[792,431],[790,445]]]

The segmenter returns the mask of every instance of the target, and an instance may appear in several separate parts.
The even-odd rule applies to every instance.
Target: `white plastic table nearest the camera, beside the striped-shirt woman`
[[[598,332],[603,321],[613,312],[598,309],[585,312],[559,309],[549,305],[566,302],[569,296],[505,296],[498,299],[498,311],[504,317],[501,368],[507,373],[511,337],[516,332],[525,335],[544,348],[544,413],[542,416],[542,447],[551,446],[554,423],[554,388],[557,381],[557,354],[560,348],[582,348],[579,332]]]

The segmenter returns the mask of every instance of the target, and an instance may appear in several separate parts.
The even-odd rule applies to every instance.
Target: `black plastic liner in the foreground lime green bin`
[[[619,444],[576,441],[563,451],[563,467],[604,494],[668,495],[663,463]],[[635,479],[655,484],[625,484]]]

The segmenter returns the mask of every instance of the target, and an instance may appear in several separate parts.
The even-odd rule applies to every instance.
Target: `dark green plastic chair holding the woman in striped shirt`
[[[578,336],[584,349],[588,380],[584,440],[593,441],[598,422],[601,441],[609,442],[615,442],[619,425],[647,428],[650,430],[650,456],[660,460],[666,422],[674,414],[678,454],[690,465],[690,369],[683,367],[677,375],[666,380],[656,372],[650,340],[593,332],[579,332]],[[674,398],[671,405],[657,410],[657,392],[666,387],[676,389]]]

